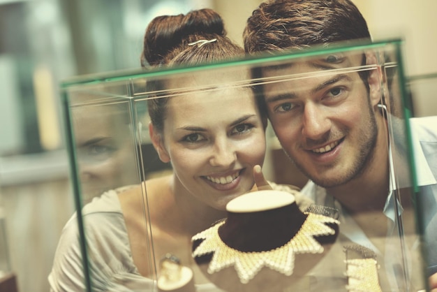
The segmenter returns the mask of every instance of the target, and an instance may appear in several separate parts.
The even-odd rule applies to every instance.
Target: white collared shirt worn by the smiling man
[[[396,119],[392,117],[392,119]],[[392,123],[401,122],[401,120],[393,120]],[[398,124],[400,125],[400,124]],[[415,180],[417,186],[429,186],[433,184],[437,184],[436,178],[434,177],[430,166],[429,161],[427,161],[427,157],[422,151],[421,142],[426,140],[427,142],[437,143],[437,117],[426,117],[426,118],[413,118],[410,119],[410,130],[411,130],[411,141],[413,145],[413,157],[415,162]],[[398,128],[403,130],[403,126]],[[392,134],[394,139],[399,138],[396,135]],[[399,138],[401,139],[401,138]],[[401,143],[403,141],[401,140]],[[436,144],[437,147],[437,144]],[[406,184],[410,184],[409,180],[397,180],[395,176],[394,163],[392,161],[392,149],[390,147],[390,189],[389,194],[387,194],[387,200],[385,202],[385,207],[383,213],[387,217],[387,238],[385,242],[385,256],[383,261],[385,262],[385,274],[387,275],[387,279],[392,287],[392,291],[402,291],[403,284],[400,279],[403,275],[399,275],[399,273],[403,273],[403,268],[399,269],[399,267],[403,267],[407,265],[409,268],[407,270],[411,270],[411,263],[408,259],[411,256],[406,255],[409,254],[410,251],[408,249],[403,248],[401,235],[399,235],[399,226],[396,215],[396,209],[398,208],[399,215],[403,212],[401,204],[395,204],[395,190],[399,188],[406,187]],[[437,163],[437,161],[432,161],[433,163]],[[362,231],[360,226],[352,219],[350,214],[341,206],[339,201],[337,201],[332,196],[327,196],[326,189],[323,187],[318,187],[313,182],[309,181],[304,188],[302,189],[302,194],[311,198],[317,205],[325,205],[327,207],[335,207],[339,210],[339,221],[340,232],[343,236],[360,244],[364,247],[368,247],[376,252],[378,257],[381,257],[381,252],[375,247],[375,245],[371,242],[369,238],[367,238],[366,234]],[[418,244],[418,242],[417,242]],[[396,246],[399,245],[399,248]],[[417,249],[418,250],[418,249]],[[380,261],[382,259],[380,258]],[[405,275],[409,277],[408,275]]]

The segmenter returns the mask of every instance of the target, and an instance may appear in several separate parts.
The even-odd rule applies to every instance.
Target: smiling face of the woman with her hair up
[[[225,210],[253,187],[253,166],[264,161],[265,126],[251,89],[223,85],[172,97],[158,152],[189,193]]]

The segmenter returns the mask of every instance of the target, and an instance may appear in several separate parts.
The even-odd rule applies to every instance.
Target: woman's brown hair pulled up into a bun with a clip
[[[188,45],[200,40],[211,41],[205,45]],[[196,65],[226,61],[243,57],[244,49],[232,43],[226,36],[223,20],[212,9],[193,10],[186,15],[163,15],[154,18],[146,29],[144,50],[141,54],[143,67]],[[148,89],[163,87],[152,82]],[[163,130],[168,98],[151,98],[147,101],[151,123],[157,131]]]

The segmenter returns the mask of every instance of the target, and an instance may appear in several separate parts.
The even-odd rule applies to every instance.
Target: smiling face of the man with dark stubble
[[[302,61],[264,76],[314,73],[264,87],[269,119],[283,149],[306,176],[323,187],[344,184],[371,159],[377,127],[369,95],[357,71],[362,55]],[[371,91],[373,92],[373,91]],[[369,98],[373,96],[373,98]]]

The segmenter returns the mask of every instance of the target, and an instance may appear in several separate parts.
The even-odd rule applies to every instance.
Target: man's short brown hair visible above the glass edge
[[[350,0],[268,0],[253,11],[243,37],[251,54],[371,38]]]

